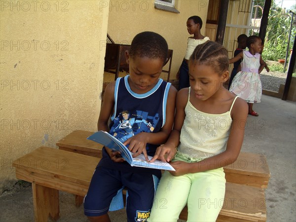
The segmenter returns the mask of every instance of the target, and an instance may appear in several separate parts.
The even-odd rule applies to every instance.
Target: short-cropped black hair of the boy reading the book
[[[150,59],[160,58],[165,63],[168,56],[168,43],[164,37],[157,33],[139,33],[132,40],[129,54],[131,58],[135,58],[136,56],[146,56]]]

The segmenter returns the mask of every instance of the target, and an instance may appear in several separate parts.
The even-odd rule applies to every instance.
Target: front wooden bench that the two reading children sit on
[[[35,221],[59,218],[59,190],[85,196],[100,158],[40,147],[16,159],[16,177],[32,183]],[[226,183],[224,202],[218,222],[266,221],[264,190],[259,187]],[[186,220],[187,210],[180,219]]]

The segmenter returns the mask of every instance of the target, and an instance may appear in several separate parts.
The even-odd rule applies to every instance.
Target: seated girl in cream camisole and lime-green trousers
[[[178,92],[173,131],[151,159],[170,161],[177,152],[176,172],[161,177],[149,222],[176,222],[186,204],[188,221],[216,221],[225,193],[222,167],[236,160],[248,115],[247,103],[223,87],[228,65],[227,50],[213,41],[191,55],[190,87]]]

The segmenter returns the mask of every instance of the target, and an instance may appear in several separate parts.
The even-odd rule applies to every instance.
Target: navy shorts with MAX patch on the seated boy
[[[159,179],[152,174],[97,167],[84,198],[84,214],[88,217],[97,217],[107,214],[111,208],[121,209],[123,199],[117,198],[116,194],[118,190],[125,187],[128,222],[147,221],[158,181]],[[122,192],[119,191],[118,194],[121,195]],[[112,201],[114,196],[116,198]]]

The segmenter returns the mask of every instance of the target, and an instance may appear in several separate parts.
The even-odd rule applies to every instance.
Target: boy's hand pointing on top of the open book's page
[[[134,153],[133,157],[139,156],[142,152],[145,159],[149,161],[147,156],[146,144],[148,143],[148,133],[139,133],[129,139],[127,139],[123,144],[128,146],[128,149]]]

